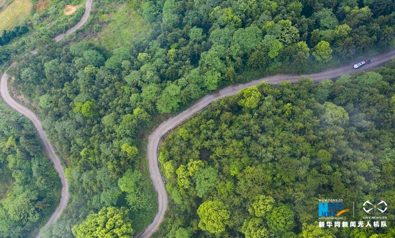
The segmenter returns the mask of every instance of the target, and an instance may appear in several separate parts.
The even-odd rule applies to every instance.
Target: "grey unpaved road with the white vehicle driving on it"
[[[159,172],[158,167],[158,148],[160,139],[170,130],[177,127],[183,121],[189,119],[194,116],[198,111],[207,107],[212,101],[218,100],[225,96],[233,96],[236,95],[242,88],[251,87],[257,85],[262,81],[266,81],[273,84],[278,84],[284,81],[297,82],[299,78],[311,78],[315,82],[322,81],[323,79],[336,79],[345,74],[355,73],[359,70],[366,70],[373,67],[377,67],[391,61],[391,59],[395,57],[395,50],[385,52],[381,55],[372,57],[370,60],[372,61],[370,64],[363,66],[355,70],[353,68],[354,64],[349,64],[342,66],[340,68],[330,69],[327,71],[323,71],[316,74],[309,75],[275,75],[271,77],[256,79],[251,82],[247,82],[245,84],[235,84],[228,87],[225,87],[221,90],[214,92],[213,94],[206,95],[197,102],[195,102],[191,107],[189,107],[184,112],[178,114],[175,117],[172,117],[163,123],[161,123],[149,136],[148,145],[147,145],[147,159],[148,159],[148,168],[150,171],[150,176],[152,182],[154,183],[155,190],[158,193],[158,213],[154,218],[153,223],[151,223],[143,233],[136,236],[136,238],[148,238],[152,236],[154,232],[156,232],[159,228],[160,223],[163,220],[164,213],[167,209],[167,194],[162,181],[162,177]]]

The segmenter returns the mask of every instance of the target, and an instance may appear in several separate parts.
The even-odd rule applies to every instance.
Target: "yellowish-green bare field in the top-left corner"
[[[30,0],[15,0],[0,12],[0,31],[12,28],[23,22],[29,15],[33,3]]]

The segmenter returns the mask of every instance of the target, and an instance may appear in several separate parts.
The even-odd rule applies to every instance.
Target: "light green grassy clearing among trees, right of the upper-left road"
[[[139,14],[124,4],[118,11],[100,16],[101,22],[109,21],[107,27],[98,34],[98,40],[109,49],[147,38],[150,24]]]

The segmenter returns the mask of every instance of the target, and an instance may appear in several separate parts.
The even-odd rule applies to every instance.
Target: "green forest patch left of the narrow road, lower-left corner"
[[[33,123],[0,111],[0,238],[34,237],[59,202],[59,178]]]

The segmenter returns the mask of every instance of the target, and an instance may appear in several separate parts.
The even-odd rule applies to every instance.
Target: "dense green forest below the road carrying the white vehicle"
[[[356,221],[364,201],[393,202],[394,146],[394,62],[334,82],[242,89],[165,139],[172,201],[158,237],[392,238],[393,208],[381,214],[388,229],[315,222],[318,199],[355,201]]]

